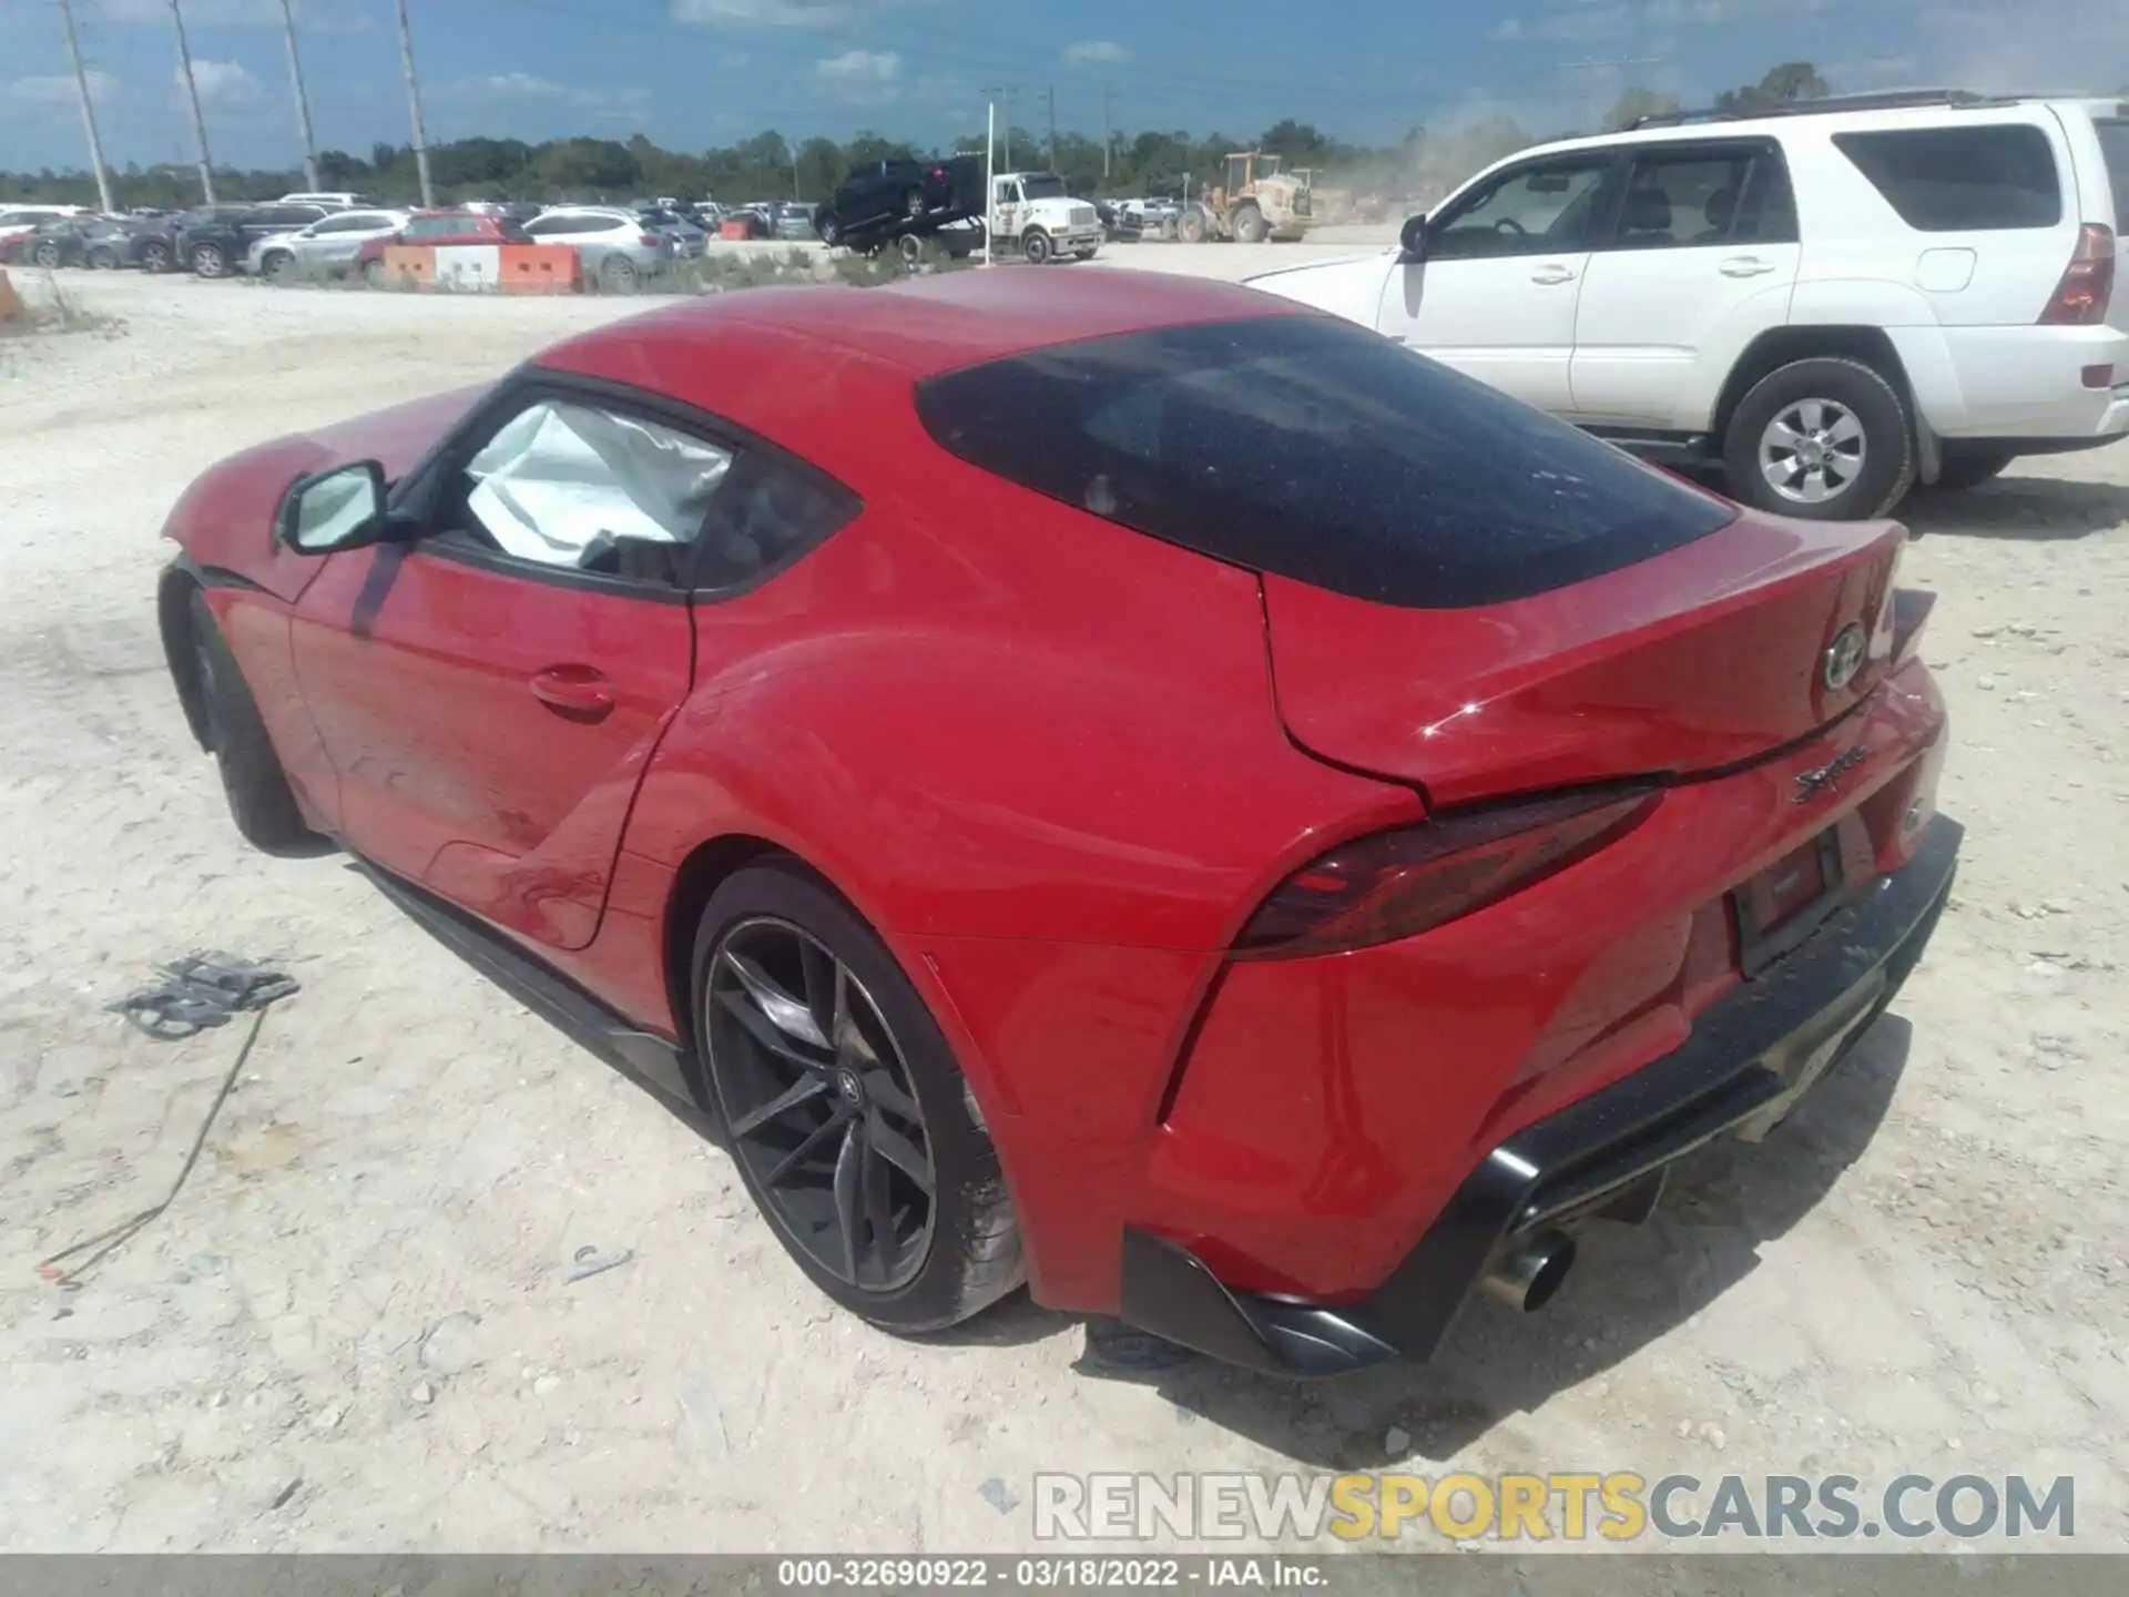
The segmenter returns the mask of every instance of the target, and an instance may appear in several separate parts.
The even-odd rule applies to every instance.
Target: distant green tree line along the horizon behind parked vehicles
[[[1788,100],[1827,94],[1827,81],[1810,62],[1784,62],[1759,83],[1716,96],[1716,109],[1750,113]],[[1635,117],[1676,111],[1678,100],[1644,87],[1629,87],[1603,117],[1603,130],[1624,128]],[[1409,128],[1392,145],[1356,145],[1292,117],[1256,136],[1211,132],[1118,134],[1103,149],[1099,138],[1060,132],[1052,143],[1026,128],[1003,130],[1001,170],[1050,168],[1075,194],[1184,194],[1218,181],[1228,151],[1262,149],[1288,166],[1307,166],[1320,185],[1382,194],[1390,200],[1431,204],[1473,170],[1544,138],[1573,136],[1573,128],[1531,132],[1514,117],[1492,117],[1452,130]],[[1580,130],[1590,132],[1590,130]],[[937,158],[981,151],[984,134],[962,134],[947,147],[915,147],[879,132],[849,141],[788,141],[781,132],[754,134],[737,145],[700,153],[664,149],[643,134],[632,138],[451,138],[428,151],[430,177],[441,200],[628,200],[669,194],[686,200],[722,202],[798,200],[818,202],[854,166],[886,155]],[[368,155],[341,149],[319,151],[319,183],[353,190],[381,204],[415,204],[419,177],[409,145],[377,143]],[[198,202],[198,172],[192,166],[123,166],[113,175],[113,196],[121,207],[177,209]],[[226,200],[264,200],[309,187],[298,168],[215,170],[215,192]],[[0,202],[94,204],[96,179],[87,170],[0,172]]]

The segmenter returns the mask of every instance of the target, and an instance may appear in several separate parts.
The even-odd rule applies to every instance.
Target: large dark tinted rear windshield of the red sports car
[[[1039,349],[926,379],[918,411],[945,449],[1039,494],[1386,605],[1526,598],[1735,515],[1331,317]]]

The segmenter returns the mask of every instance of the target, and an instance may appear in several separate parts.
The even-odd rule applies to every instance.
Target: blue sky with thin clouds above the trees
[[[298,164],[281,0],[179,0],[217,166]],[[405,143],[394,0],[292,0],[321,149]],[[72,0],[115,166],[194,162],[168,0]],[[1688,104],[1812,60],[1837,89],[2129,85],[2120,0],[409,0],[428,138],[643,132],[669,149],[984,126],[1358,143],[1512,115],[1592,124],[1641,83]],[[57,0],[0,0],[0,170],[85,168]]]

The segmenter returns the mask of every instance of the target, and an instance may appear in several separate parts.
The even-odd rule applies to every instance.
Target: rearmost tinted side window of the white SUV
[[[1833,134],[1833,145],[1920,232],[2052,228],[2063,190],[2031,124]]]

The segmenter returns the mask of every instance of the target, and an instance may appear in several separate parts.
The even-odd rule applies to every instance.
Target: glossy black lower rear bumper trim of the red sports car
[[[1120,1318],[1267,1373],[1337,1376],[1431,1356],[1518,1244],[1650,1199],[1680,1158],[1722,1135],[1761,1135],[1833,1069],[1922,956],[1961,835],[1933,820],[1903,869],[1712,1005],[1684,1046],[1495,1148],[1363,1303],[1235,1293],[1188,1250],[1128,1229]]]

